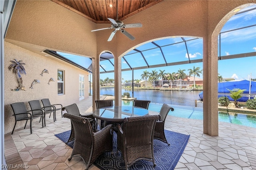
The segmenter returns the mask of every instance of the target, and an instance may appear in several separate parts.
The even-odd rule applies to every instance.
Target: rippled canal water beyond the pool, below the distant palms
[[[132,89],[122,89],[122,94],[124,94],[124,92],[129,92],[132,97]],[[199,99],[199,93],[200,91],[134,89],[133,96],[138,100],[150,100],[151,103],[195,107],[195,100]],[[114,96],[114,88],[100,88],[100,95],[106,94]],[[203,107],[202,103],[198,103],[197,107]]]

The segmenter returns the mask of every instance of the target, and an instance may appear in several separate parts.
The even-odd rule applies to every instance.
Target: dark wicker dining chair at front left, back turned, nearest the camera
[[[88,170],[100,154],[113,150],[113,125],[108,125],[94,133],[90,124],[92,119],[68,113],[64,113],[63,117],[71,120],[75,133],[74,147],[70,158],[68,158],[69,161],[73,157],[80,157]]]

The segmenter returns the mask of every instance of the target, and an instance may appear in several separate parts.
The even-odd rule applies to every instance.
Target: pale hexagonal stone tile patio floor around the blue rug
[[[78,103],[81,114],[91,113],[91,106],[92,96]],[[157,113],[150,111],[150,114]],[[33,134],[29,125],[26,129],[16,129],[13,135],[6,134],[7,164],[28,165],[28,170],[84,170],[80,158],[68,161],[72,149],[54,136],[70,130],[70,120],[62,118],[60,111],[56,117],[56,122],[52,117],[46,118],[44,128],[39,120],[34,120]],[[256,128],[219,122],[219,136],[211,137],[203,134],[202,120],[173,116],[166,118],[165,128],[190,134],[175,170],[256,170]],[[89,169],[99,168],[92,165]]]

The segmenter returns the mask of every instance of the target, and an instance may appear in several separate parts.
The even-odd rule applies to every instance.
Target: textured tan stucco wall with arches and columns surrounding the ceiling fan
[[[229,13],[241,5],[250,3],[256,4],[256,0],[164,0],[123,20],[124,23],[142,23],[141,28],[126,30],[136,38],[134,41],[130,41],[118,32],[113,40],[108,42],[111,30],[95,32],[91,30],[109,27],[110,24],[96,24],[50,0],[18,0],[6,38],[46,49],[96,58],[92,59],[93,100],[99,98],[98,57],[102,51],[112,52],[115,58],[115,104],[120,104],[120,56],[130,51],[132,47],[162,37],[202,37],[206,98],[204,133],[217,135],[218,42],[216,39],[224,23],[233,15]],[[95,109],[94,103],[93,108]]]

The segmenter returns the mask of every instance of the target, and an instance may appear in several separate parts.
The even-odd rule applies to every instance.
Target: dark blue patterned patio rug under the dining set
[[[170,143],[168,146],[166,143],[154,139],[154,157],[156,161],[156,167],[153,166],[153,162],[146,160],[139,160],[134,163],[129,170],[173,170],[177,165],[182,152],[184,151],[190,135],[184,135],[173,131],[165,131],[167,141]],[[70,131],[59,133],[55,135],[64,143],[68,141]],[[105,152],[101,154],[99,158],[94,162],[94,165],[101,170],[125,170],[124,160],[121,156],[121,152],[116,152],[116,133],[113,135],[113,151]],[[74,141],[69,142],[68,146],[73,148]]]

